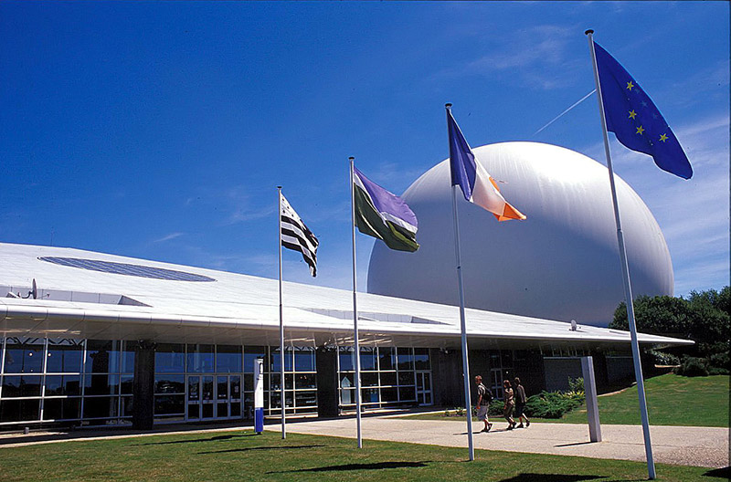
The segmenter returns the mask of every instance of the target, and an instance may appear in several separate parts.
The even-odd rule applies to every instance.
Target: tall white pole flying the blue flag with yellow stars
[[[645,383],[642,378],[642,365],[640,361],[640,344],[637,341],[637,325],[634,320],[634,304],[632,303],[632,287],[630,284],[630,265],[627,262],[627,250],[624,246],[624,235],[620,222],[620,204],[617,202],[617,190],[614,186],[614,171],[611,167],[611,154],[609,153],[609,134],[607,133],[607,119],[604,115],[604,100],[601,96],[599,86],[599,68],[597,67],[597,55],[594,51],[594,30],[585,32],[588,38],[588,47],[591,52],[591,65],[594,68],[594,83],[597,87],[597,99],[599,100],[599,117],[601,119],[601,131],[604,136],[604,154],[607,157],[607,169],[609,170],[609,187],[611,188],[611,201],[614,207],[614,222],[617,225],[617,242],[620,245],[620,262],[622,267],[622,281],[624,283],[624,299],[627,304],[627,320],[630,323],[630,344],[632,347],[632,361],[634,362],[634,376],[637,380],[637,395],[640,399],[640,414],[642,418],[642,435],[645,442],[645,456],[647,457],[647,473],[650,479],[656,477],[655,462],[652,458],[652,443],[650,441],[650,421],[647,414],[647,401],[645,399]]]

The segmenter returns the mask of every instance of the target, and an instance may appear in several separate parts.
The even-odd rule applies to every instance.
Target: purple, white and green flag
[[[374,183],[353,167],[355,225],[364,235],[381,239],[398,251],[416,251],[417,216],[396,194]]]

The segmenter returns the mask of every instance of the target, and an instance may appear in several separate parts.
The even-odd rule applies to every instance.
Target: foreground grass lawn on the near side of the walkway
[[[639,481],[640,462],[290,434],[231,431],[0,448],[0,480]],[[725,480],[719,470],[658,464],[658,480]]]

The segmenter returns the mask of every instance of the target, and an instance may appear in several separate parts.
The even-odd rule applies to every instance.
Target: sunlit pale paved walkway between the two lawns
[[[477,433],[482,423],[472,424],[475,448],[645,461],[641,425],[602,425],[602,442],[588,440],[586,424],[531,424],[529,428],[506,431],[504,421],[494,421],[490,433]],[[362,421],[363,438],[412,444],[465,447],[467,423],[416,420],[393,416],[367,417]],[[279,424],[266,426],[279,431]],[[291,422],[287,430],[297,434],[333,435],[355,438],[355,418]],[[683,466],[728,466],[728,428],[654,425],[650,428],[656,463]],[[365,443],[364,445],[367,445]]]

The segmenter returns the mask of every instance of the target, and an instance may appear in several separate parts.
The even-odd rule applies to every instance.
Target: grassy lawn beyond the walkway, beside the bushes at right
[[[673,373],[645,380],[650,424],[727,427],[728,382],[728,375],[683,377]],[[445,419],[443,414],[409,416]],[[599,396],[599,419],[602,424],[640,424],[637,387],[630,387],[620,393]],[[450,420],[454,420],[454,418],[450,417]],[[536,418],[532,420],[586,424],[587,407],[581,405],[560,419],[541,420]]]

